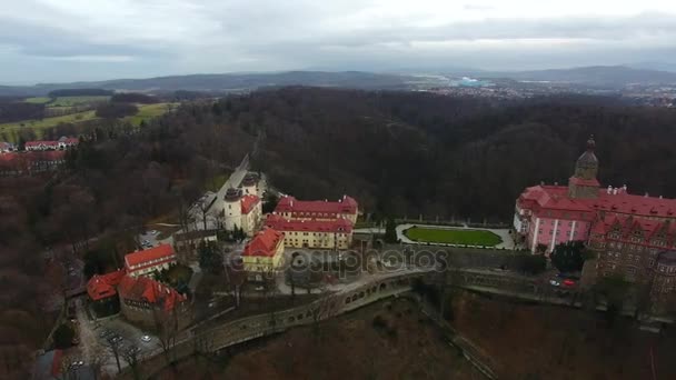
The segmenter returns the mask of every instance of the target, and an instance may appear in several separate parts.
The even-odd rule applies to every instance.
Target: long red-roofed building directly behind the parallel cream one
[[[324,201],[302,201],[294,197],[282,197],[275,208],[275,213],[289,220],[336,220],[346,219],[352,224],[357,222],[359,204],[348,196],[335,202]]]

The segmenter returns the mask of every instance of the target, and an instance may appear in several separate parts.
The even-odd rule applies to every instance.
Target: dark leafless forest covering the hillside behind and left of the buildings
[[[675,127],[676,110],[612,99],[312,88],[202,100],[136,130],[99,123],[57,176],[0,179],[0,280],[13,289],[0,302],[0,377],[23,373],[48,333],[41,308],[62,276],[47,247],[83,256],[91,240],[121,257],[143,223],[185,216],[252,150],[272,184],[299,198],[349,193],[378,217],[507,222],[524,187],[567,180],[590,133],[603,183],[676,197]]]

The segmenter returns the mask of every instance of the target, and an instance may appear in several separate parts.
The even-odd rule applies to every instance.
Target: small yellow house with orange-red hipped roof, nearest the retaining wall
[[[249,279],[261,281],[265,274],[274,273],[284,259],[284,233],[264,228],[245,246],[241,253],[242,264]]]

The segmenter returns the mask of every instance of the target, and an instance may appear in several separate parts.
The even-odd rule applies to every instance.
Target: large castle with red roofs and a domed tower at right
[[[597,253],[598,276],[649,284],[667,298],[676,284],[676,200],[603,188],[594,138],[578,158],[568,186],[534,186],[516,201],[514,229],[534,253],[584,241]]]

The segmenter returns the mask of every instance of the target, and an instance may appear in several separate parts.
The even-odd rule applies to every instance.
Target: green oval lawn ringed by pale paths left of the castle
[[[428,227],[411,227],[404,231],[407,238],[420,242],[437,242],[447,244],[494,247],[503,239],[490,231],[465,229],[436,229]]]

